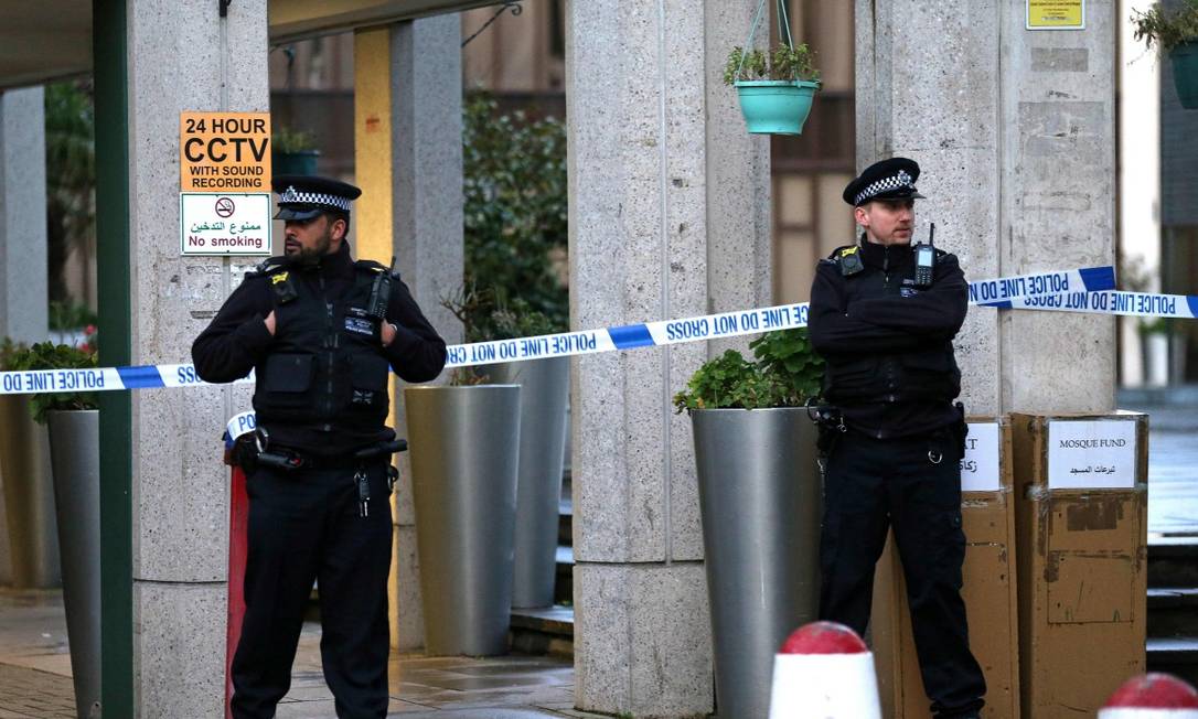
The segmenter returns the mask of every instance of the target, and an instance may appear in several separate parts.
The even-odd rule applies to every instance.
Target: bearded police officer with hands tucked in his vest
[[[361,189],[314,176],[276,176],[273,187],[285,254],[248,273],[192,346],[204,380],[252,369],[256,380],[259,431],[237,449],[249,528],[232,715],[274,715],[317,580],[337,714],[386,717],[388,367],[431,380],[446,345],[398,276],[350,256],[350,203]]]

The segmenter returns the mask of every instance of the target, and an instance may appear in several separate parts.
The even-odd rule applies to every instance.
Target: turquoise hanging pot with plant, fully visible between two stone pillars
[[[725,84],[733,85],[740,98],[740,113],[750,133],[801,134],[811,114],[819,71],[805,43],[794,44],[785,0],[778,0],[778,35],[786,44],[768,54],[751,49],[754,35],[764,14],[766,0],[757,5],[745,48],[733,48],[724,71]]]

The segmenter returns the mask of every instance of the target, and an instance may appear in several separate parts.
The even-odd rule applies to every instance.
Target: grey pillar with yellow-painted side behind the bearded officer
[[[448,343],[461,324],[441,307],[462,282],[461,20],[458,14],[355,35],[355,164],[358,255],[397,268]],[[401,382],[397,382],[403,385]],[[403,391],[392,421],[406,422]],[[406,454],[399,455],[391,578],[392,647],[424,646],[416,514]]]

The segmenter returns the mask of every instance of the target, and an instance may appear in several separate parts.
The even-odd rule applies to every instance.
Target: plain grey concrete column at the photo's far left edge
[[[0,337],[28,343],[48,330],[43,96],[0,92]]]

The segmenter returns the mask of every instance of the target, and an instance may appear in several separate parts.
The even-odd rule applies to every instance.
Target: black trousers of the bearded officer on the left
[[[249,495],[246,618],[232,660],[232,715],[274,717],[313,580],[320,587],[320,655],[337,715],[386,717],[391,490],[382,460],[369,465],[368,516],[358,516],[355,470],[259,467]]]

